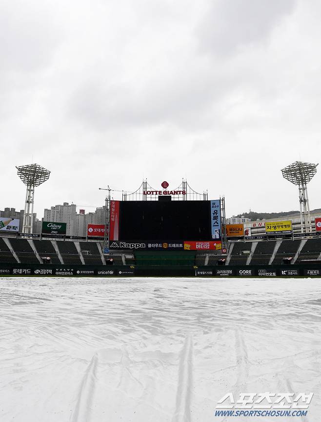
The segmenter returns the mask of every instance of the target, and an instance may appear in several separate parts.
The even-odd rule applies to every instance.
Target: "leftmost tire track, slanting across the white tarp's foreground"
[[[97,379],[98,354],[92,357],[91,362],[82,378],[76,407],[70,418],[71,422],[90,421],[91,405]]]

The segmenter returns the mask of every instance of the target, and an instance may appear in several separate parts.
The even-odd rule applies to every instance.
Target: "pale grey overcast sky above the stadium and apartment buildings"
[[[51,171],[39,218],[142,178],[186,177],[227,216],[299,209],[280,170],[321,161],[320,15],[319,0],[1,1],[0,209],[24,208],[15,166],[32,162]]]

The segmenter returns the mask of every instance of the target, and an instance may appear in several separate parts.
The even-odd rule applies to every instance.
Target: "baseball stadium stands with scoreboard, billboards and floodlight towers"
[[[42,222],[33,233],[35,187],[50,172],[17,167],[26,185],[22,231],[1,219],[0,274],[12,276],[312,277],[321,271],[321,211],[310,212],[307,183],[317,164],[296,161],[282,175],[299,187],[300,213],[291,219],[229,224],[225,198],[208,198],[182,179],[152,187],[143,180],[121,200],[106,196],[103,226],[66,235],[66,222]],[[99,236],[97,236],[99,234]]]

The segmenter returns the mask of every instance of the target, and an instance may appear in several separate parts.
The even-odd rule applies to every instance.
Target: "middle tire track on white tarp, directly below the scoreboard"
[[[180,354],[179,380],[176,393],[176,408],[172,422],[191,421],[191,396],[193,384],[193,337],[188,335]]]

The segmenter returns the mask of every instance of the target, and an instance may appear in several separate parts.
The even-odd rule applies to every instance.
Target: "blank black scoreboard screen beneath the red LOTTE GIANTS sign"
[[[119,240],[210,240],[211,201],[121,201]]]

